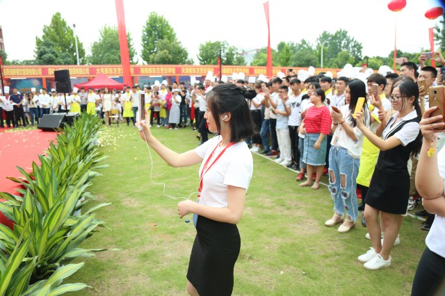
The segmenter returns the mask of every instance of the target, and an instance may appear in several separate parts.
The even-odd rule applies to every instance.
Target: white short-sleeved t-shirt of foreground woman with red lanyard
[[[221,136],[217,135],[195,149],[196,154],[203,158],[199,176],[201,176],[202,167],[204,167],[207,158],[209,158],[211,152],[218,146],[221,140]],[[213,163],[224,148],[219,146],[216,148],[207,167]],[[248,145],[244,141],[232,145],[211,166],[210,170],[204,174],[200,204],[215,208],[226,208],[228,186],[236,186],[248,190],[252,173],[253,159]]]

